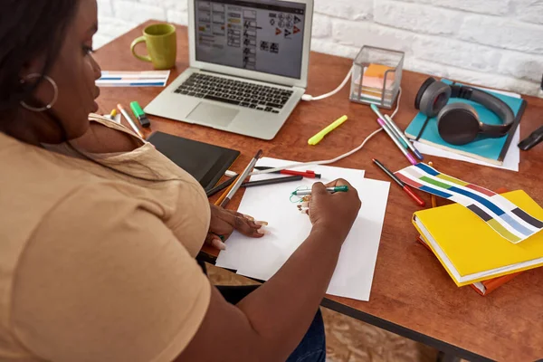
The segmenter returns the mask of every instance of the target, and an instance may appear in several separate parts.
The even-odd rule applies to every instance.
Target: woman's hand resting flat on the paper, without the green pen
[[[210,206],[211,223],[209,224],[209,232],[205,238],[205,243],[210,244],[215,249],[226,249],[224,241],[230,237],[234,230],[254,238],[262,237],[266,233],[262,229],[262,226],[268,224],[266,222],[254,221],[251,216],[225,210],[223,207],[213,204],[210,204]]]

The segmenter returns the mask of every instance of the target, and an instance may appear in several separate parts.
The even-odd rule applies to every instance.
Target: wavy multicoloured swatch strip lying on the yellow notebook
[[[422,163],[395,172],[405,184],[467,207],[496,233],[520,243],[543,229],[543,222],[505,197],[484,187],[448,176]]]

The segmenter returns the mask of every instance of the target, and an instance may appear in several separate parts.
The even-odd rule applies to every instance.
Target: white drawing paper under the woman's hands
[[[279,167],[290,163],[262,158],[258,165]],[[310,168],[322,174],[320,181],[324,183],[345,178],[358,190],[362,208],[348,239],[343,243],[328,292],[357,300],[369,300],[390,184],[364,179],[364,171],[361,170]],[[270,177],[277,175],[257,175],[251,179]],[[226,242],[226,251],[219,254],[216,265],[237,270],[238,274],[248,277],[264,281],[270,279],[310,234],[309,217],[300,214],[289,197],[296,187],[311,186],[314,181],[304,178],[300,182],[248,188],[238,211],[269,222],[267,229],[271,234],[256,240],[239,233],[233,234]]]

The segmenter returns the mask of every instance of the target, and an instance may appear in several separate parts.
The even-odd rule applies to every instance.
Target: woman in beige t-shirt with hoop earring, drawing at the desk
[[[195,254],[205,241],[224,248],[218,235],[234,229],[262,237],[265,223],[210,207],[149,144],[89,116],[96,0],[5,9],[0,360],[324,360],[314,317],[360,207],[356,190],[315,184],[307,240],[270,281],[224,300]]]

